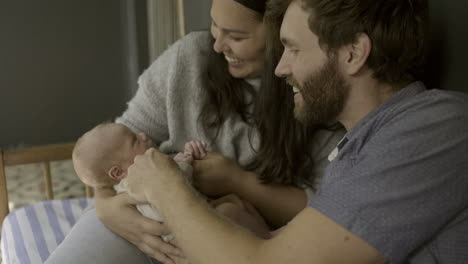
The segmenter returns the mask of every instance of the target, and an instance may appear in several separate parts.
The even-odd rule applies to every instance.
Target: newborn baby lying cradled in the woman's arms
[[[122,124],[100,124],[85,133],[76,142],[73,149],[73,166],[83,183],[94,188],[114,187],[117,193],[126,191],[127,169],[136,155],[145,153],[152,147],[151,139],[144,133],[134,133]],[[191,181],[192,162],[202,159],[206,144],[190,141],[185,144],[184,152],[178,153],[174,160],[186,177]],[[229,198],[229,197],[228,197]],[[218,202],[216,209],[234,222],[243,225],[256,235],[269,238],[268,226],[252,205],[240,199]],[[163,219],[150,204],[137,205],[137,209],[146,217],[158,222]],[[172,235],[162,237],[172,240]]]

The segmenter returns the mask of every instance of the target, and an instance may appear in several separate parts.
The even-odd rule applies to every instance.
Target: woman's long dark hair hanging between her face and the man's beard
[[[317,128],[306,127],[294,118],[292,87],[274,74],[283,53],[279,29],[287,6],[287,1],[269,3],[265,13],[265,65],[254,112],[260,148],[250,168],[260,169],[264,183],[314,187],[310,151]]]

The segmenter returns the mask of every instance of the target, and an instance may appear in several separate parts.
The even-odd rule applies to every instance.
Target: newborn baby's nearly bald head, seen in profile
[[[151,147],[143,133],[107,123],[86,132],[73,149],[73,166],[78,177],[92,187],[110,187],[127,176],[136,155]]]

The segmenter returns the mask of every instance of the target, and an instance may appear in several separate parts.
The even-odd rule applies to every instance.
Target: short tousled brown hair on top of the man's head
[[[372,41],[367,66],[389,84],[418,78],[428,46],[427,0],[301,0],[313,14],[309,27],[324,50],[351,44],[360,33]]]

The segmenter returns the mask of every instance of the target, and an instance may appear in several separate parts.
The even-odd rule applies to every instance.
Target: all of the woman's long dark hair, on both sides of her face
[[[265,1],[235,0],[256,11],[262,17]],[[281,17],[271,18],[271,23],[281,23]],[[231,76],[223,54],[210,50],[206,71],[205,102],[200,123],[205,129],[214,130],[214,138],[223,122],[233,114],[258,130],[260,146],[255,160],[247,166],[260,173],[264,183],[307,184],[312,186],[309,151],[313,128],[303,127],[293,115],[292,88],[274,75],[274,68],[282,53],[278,24],[271,24],[267,37],[267,56],[260,91],[243,79]],[[213,40],[214,42],[214,40]],[[253,98],[247,101],[247,98]],[[254,104],[253,113],[249,113]],[[272,111],[272,108],[275,111]],[[250,133],[252,136],[253,133]]]

